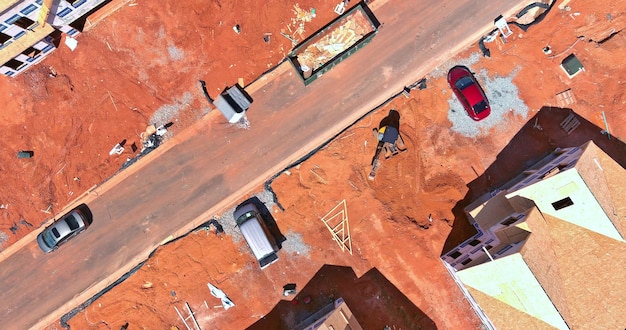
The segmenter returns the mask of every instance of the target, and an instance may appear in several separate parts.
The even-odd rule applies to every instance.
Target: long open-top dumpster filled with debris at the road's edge
[[[362,1],[296,45],[287,58],[308,85],[367,45],[379,26]]]

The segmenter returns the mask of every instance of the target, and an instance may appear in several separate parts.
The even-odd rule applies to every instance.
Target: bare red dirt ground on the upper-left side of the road
[[[281,30],[291,28],[302,40],[336,17],[329,2],[306,0],[299,6],[307,12],[316,8],[302,37],[292,23],[294,4],[132,1],[83,33],[76,51],[61,44],[37,67],[16,79],[0,79],[0,248],[116,173],[138,153],[129,146],[141,146],[139,134],[162,106],[172,108],[174,134],[206,114],[198,80],[206,81],[213,97],[238,78],[248,84],[291,50]],[[236,24],[241,34],[233,31]],[[266,32],[272,33],[269,44],[263,41]],[[124,139],[127,150],[109,156]],[[17,159],[20,150],[35,156]]]

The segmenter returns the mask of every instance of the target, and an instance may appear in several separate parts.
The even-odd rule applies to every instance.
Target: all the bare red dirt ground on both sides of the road
[[[51,216],[41,210],[52,205],[52,214],[60,212],[73,198],[112,176],[126,157],[133,157],[131,153],[110,157],[108,152],[123,139],[128,145],[139,143],[138,133],[151,124],[150,117],[161,106],[177,109],[172,117],[174,134],[202,118],[208,109],[199,79],[206,80],[209,92],[216,95],[238,78],[245,82],[257,78],[291,48],[280,35],[281,29],[288,32],[286,26],[295,17],[291,5],[253,0],[132,4],[81,35],[75,52],[62,46],[17,79],[0,79],[0,88],[6,91],[0,96],[5,104],[0,204],[7,205],[1,210],[3,249]],[[305,11],[313,7],[317,12],[306,23],[306,34],[335,17],[335,4],[299,1]],[[69,324],[75,329],[119,328],[126,322],[129,329],[182,328],[174,306],[183,310],[187,301],[201,326],[240,329],[261,320],[255,324],[258,328],[280,328],[332,295],[344,296],[353,312],[364,315],[359,321],[365,328],[478,328],[477,318],[439,260],[444,244],[470,234],[458,230],[467,224],[453,212],[459,201],[471,196],[467,185],[487,170],[529,118],[543,106],[556,105],[555,94],[568,88],[577,99],[571,105],[576,113],[600,130],[604,110],[613,138],[626,137],[626,115],[621,111],[626,103],[626,70],[625,60],[618,56],[626,49],[626,36],[617,33],[601,44],[588,41],[623,29],[626,4],[607,7],[602,1],[574,0],[569,6],[570,11],[555,6],[527,32],[512,26],[514,34],[507,43],[488,44],[491,58],[472,67],[487,69],[490,76],[507,76],[519,68],[514,82],[531,109],[528,118],[510,116],[506,125],[489,135],[463,137],[449,130],[445,79],[429,79],[425,91],[396,98],[274,181],[272,188],[285,210],[274,209],[273,216],[284,234],[301,235],[308,253],[281,251],[279,262],[261,271],[245,242],[204,231],[192,233],[159,249],[137,273]],[[239,35],[232,30],[235,24],[241,25]],[[264,32],[272,33],[269,45],[263,42]],[[577,41],[580,36],[584,40]],[[553,58],[542,52],[546,45]],[[473,46],[458,58],[476,52]],[[586,68],[573,79],[558,67],[570,52]],[[56,78],[49,76],[49,67],[58,72]],[[185,97],[186,92],[192,97]],[[367,174],[376,142],[371,129],[391,108],[401,115],[408,151],[383,160],[376,179],[370,181]],[[17,159],[19,150],[33,150],[35,156]],[[352,256],[339,250],[320,221],[342,199],[348,206]],[[350,272],[344,268],[332,275],[334,268],[325,265],[348,266],[354,276],[346,275]],[[316,276],[318,271],[335,286]],[[310,295],[313,305],[300,303],[290,310],[283,302],[277,308],[288,321],[263,319],[286,299],[284,284],[303,288],[309,281],[299,298]],[[216,308],[219,302],[209,294],[206,282],[224,290],[237,306],[228,311]],[[360,299],[355,292],[362,293]]]

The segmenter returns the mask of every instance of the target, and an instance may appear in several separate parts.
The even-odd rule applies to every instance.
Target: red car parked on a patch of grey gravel
[[[489,101],[472,72],[464,66],[455,66],[448,72],[448,84],[461,101],[470,118],[479,121],[491,113]]]

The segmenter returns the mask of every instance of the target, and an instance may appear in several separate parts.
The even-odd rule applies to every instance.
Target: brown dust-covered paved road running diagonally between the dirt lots
[[[6,258],[0,265],[0,323],[45,327],[144,260],[166,237],[232,206],[477,41],[495,17],[527,3],[374,2],[383,26],[372,42],[308,87],[287,69],[256,89],[250,129],[210,114],[182,134],[188,138],[171,140],[171,148],[128,170],[119,184],[90,195],[95,220],[88,231],[49,255],[33,240]]]

